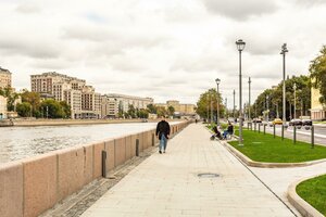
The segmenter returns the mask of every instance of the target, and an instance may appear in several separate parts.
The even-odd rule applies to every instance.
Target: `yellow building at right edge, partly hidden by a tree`
[[[326,107],[319,102],[321,92],[319,90],[311,89],[311,119],[322,120],[326,119]]]

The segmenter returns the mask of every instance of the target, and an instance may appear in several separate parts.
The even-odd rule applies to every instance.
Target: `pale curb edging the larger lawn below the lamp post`
[[[262,168],[285,168],[285,167],[302,167],[302,166],[310,166],[314,164],[319,164],[326,162],[324,159],[311,161],[311,162],[302,162],[302,163],[264,163],[264,162],[254,162],[233,145],[228,144],[225,141],[220,141],[227,150],[234,153],[237,157],[239,157],[244,164],[252,167],[262,167]]]

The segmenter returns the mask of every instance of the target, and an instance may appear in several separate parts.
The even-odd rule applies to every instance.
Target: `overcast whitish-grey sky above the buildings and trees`
[[[324,0],[0,0],[0,66],[13,87],[58,72],[86,79],[97,92],[196,104],[216,88],[233,107],[251,102],[286,73],[309,75],[326,43]]]

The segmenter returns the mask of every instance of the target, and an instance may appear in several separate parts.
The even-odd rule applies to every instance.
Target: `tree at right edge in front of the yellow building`
[[[311,61],[309,67],[312,86],[319,90],[319,102],[326,104],[326,46],[319,51],[319,55]]]

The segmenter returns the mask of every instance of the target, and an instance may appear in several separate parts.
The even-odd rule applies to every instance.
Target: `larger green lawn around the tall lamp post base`
[[[236,133],[238,130],[236,130]],[[326,146],[315,145],[311,149],[310,143],[280,137],[274,139],[273,135],[243,129],[243,145],[238,141],[229,142],[234,148],[242,152],[252,161],[269,163],[299,163],[326,158]]]

